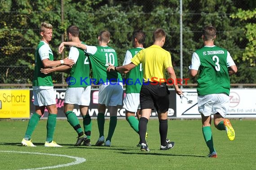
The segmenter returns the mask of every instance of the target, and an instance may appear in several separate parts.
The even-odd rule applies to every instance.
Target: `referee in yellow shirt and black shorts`
[[[176,81],[176,75],[172,68],[171,54],[164,50],[166,33],[163,29],[158,28],[153,33],[154,44],[148,48],[141,50],[132,58],[132,62],[120,67],[114,67],[111,64],[107,68],[116,72],[129,71],[142,63],[143,68],[143,84],[140,92],[141,118],[139,120],[139,135],[141,140],[141,151],[149,151],[146,143],[147,123],[150,118],[151,110],[154,107],[158,113],[159,133],[161,146],[160,150],[171,149],[174,142],[167,140],[168,131],[168,115],[169,109],[169,90],[166,85],[165,70],[168,71],[170,78]],[[141,82],[142,83],[142,82]],[[178,95],[182,94],[177,83],[173,82],[173,86]]]

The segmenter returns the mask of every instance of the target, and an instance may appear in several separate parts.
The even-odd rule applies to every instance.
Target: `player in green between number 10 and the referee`
[[[132,49],[126,51],[123,65],[130,64],[131,59],[139,52],[144,49],[143,44],[145,43],[146,34],[141,30],[135,30],[132,32]],[[140,91],[143,78],[142,64],[137,65],[131,71],[126,71],[126,86],[124,97],[124,108],[125,108],[125,118],[132,127],[132,129],[139,133],[139,121],[140,115]],[[137,118],[135,118],[135,113]],[[147,135],[146,135],[147,136]],[[141,142],[137,144],[138,147],[141,146]]]

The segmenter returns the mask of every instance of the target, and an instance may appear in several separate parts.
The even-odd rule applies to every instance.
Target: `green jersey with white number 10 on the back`
[[[123,82],[119,72],[107,71],[108,63],[118,66],[117,55],[113,48],[108,46],[86,46],[86,48],[92,64],[93,79],[96,79],[95,84]]]

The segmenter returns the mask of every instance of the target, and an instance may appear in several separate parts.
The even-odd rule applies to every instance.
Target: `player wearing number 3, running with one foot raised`
[[[192,55],[192,64],[189,67],[190,76],[197,75],[198,110],[202,116],[203,137],[209,148],[208,157],[217,157],[213,146],[211,115],[214,126],[218,130],[226,130],[230,140],[234,140],[235,132],[229,119],[225,119],[230,105],[230,78],[237,72],[237,67],[229,51],[214,45],[216,28],[203,28],[204,47],[196,50]]]

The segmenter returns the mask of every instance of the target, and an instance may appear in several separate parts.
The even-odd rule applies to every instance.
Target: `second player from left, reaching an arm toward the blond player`
[[[77,26],[69,26],[66,30],[68,41],[83,43],[79,40],[79,28]],[[89,81],[90,66],[88,56],[76,47],[71,47],[69,51],[69,59],[73,59],[75,64],[70,69],[69,66],[61,65],[55,68],[41,69],[44,74],[50,72],[61,72],[70,69],[68,78],[75,79],[75,83],[67,82],[68,88],[66,89],[64,99],[64,113],[67,121],[75,129],[78,134],[78,139],[75,146],[79,146],[84,142],[84,145],[91,146],[91,130],[92,121],[88,114],[88,106],[90,104],[91,85]],[[79,120],[73,112],[74,105],[79,105],[80,113],[83,117],[84,132],[79,124]],[[84,134],[85,133],[85,134]]]

